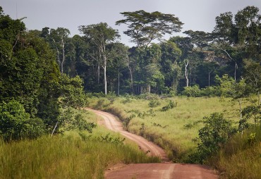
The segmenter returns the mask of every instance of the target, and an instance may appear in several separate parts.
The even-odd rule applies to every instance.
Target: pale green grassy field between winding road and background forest
[[[170,101],[174,108],[164,111],[164,106],[168,106]],[[154,107],[149,103],[154,103]],[[102,108],[119,116],[128,123],[127,130],[159,144],[175,162],[188,161],[188,155],[197,144],[195,138],[198,137],[198,130],[202,127],[198,121],[204,116],[223,111],[231,120],[236,121],[239,118],[238,113],[232,110],[239,107],[232,105],[229,99],[221,100],[218,97],[117,97],[115,100],[92,98],[90,104],[94,108]]]

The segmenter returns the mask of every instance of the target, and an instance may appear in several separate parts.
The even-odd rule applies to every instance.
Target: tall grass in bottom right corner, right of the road
[[[261,176],[261,127],[233,136],[210,159],[210,165],[221,172],[221,178],[251,178]]]

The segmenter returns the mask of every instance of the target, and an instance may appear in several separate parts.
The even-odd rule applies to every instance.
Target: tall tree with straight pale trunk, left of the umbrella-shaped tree
[[[79,30],[97,47],[97,54],[99,54],[99,60],[104,69],[104,93],[107,94],[107,45],[110,42],[114,42],[119,37],[119,34],[116,30],[109,27],[107,23],[81,25]]]

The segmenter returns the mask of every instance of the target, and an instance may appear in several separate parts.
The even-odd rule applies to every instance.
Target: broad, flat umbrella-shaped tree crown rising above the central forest
[[[147,47],[154,39],[161,39],[165,34],[181,31],[181,21],[172,14],[158,11],[134,11],[121,13],[123,20],[118,20],[116,25],[126,24],[128,30],[123,33],[131,38],[137,47]]]

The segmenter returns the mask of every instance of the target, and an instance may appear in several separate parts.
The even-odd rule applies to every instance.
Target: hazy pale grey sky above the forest
[[[235,14],[245,6],[257,6],[261,11],[261,0],[0,0],[0,6],[11,18],[27,17],[23,22],[28,30],[66,27],[73,36],[79,34],[80,25],[108,23],[119,30],[121,42],[131,46],[129,37],[123,35],[126,26],[115,25],[117,20],[123,19],[121,12],[171,13],[184,23],[182,32],[212,32],[220,13]]]

